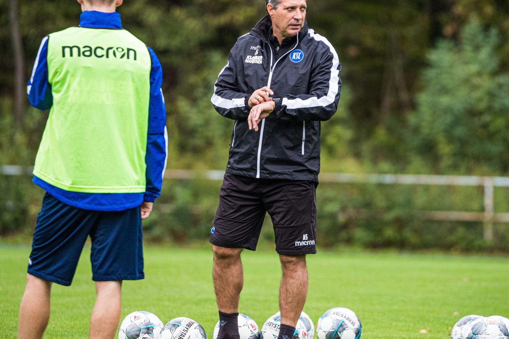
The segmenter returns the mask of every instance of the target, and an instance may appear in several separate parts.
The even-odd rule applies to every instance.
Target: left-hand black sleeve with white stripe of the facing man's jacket
[[[251,110],[247,101],[251,95],[239,93],[235,66],[236,47],[237,44],[230,51],[228,64],[219,73],[210,101],[222,116],[230,119],[247,119]]]

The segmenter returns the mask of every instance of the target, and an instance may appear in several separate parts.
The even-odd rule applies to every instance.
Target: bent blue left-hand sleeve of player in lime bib
[[[37,57],[35,59],[34,68],[26,93],[29,95],[29,101],[32,106],[45,110],[53,106],[53,95],[51,94],[51,84],[48,82],[48,36],[42,39]]]

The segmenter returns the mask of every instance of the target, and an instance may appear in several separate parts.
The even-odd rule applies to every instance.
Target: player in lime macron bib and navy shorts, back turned
[[[52,283],[69,286],[90,236],[97,298],[90,338],[111,339],[123,280],[144,279],[142,219],[166,166],[162,68],[122,28],[122,0],[77,0],[79,26],[41,43],[27,92],[51,109],[34,166],[46,193],[32,242],[18,338],[41,338]],[[83,337],[86,335],[83,335]]]

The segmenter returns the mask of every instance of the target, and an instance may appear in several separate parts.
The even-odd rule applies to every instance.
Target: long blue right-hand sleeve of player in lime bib
[[[166,169],[168,133],[166,130],[166,107],[162,94],[162,67],[154,51],[147,47],[152,58],[150,72],[149,126],[147,133],[147,189],[144,201],[154,202],[161,195],[162,179]]]

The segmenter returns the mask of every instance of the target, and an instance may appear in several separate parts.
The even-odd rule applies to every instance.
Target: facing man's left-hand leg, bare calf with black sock
[[[219,309],[218,338],[236,339],[239,337],[237,322],[239,299],[244,287],[244,275],[240,253],[242,249],[230,249],[212,245],[214,265],[212,279]]]

